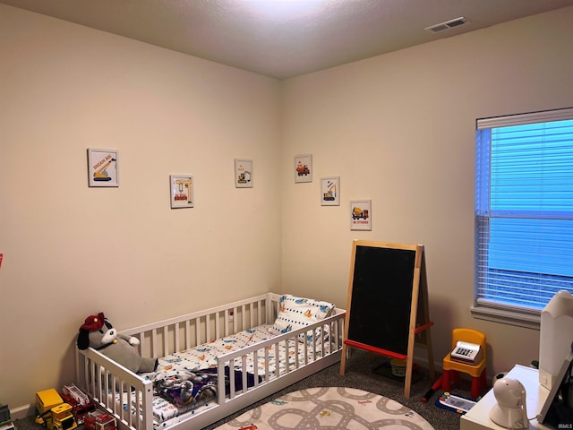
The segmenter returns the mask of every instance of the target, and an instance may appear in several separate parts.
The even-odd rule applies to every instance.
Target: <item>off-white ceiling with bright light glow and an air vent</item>
[[[285,79],[443,39],[573,0],[0,0]],[[438,33],[426,27],[465,17]]]

